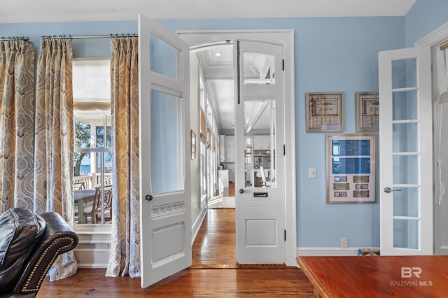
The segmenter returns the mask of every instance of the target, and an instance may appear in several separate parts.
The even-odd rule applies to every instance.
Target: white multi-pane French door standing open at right
[[[379,52],[381,255],[433,254],[430,48]]]

